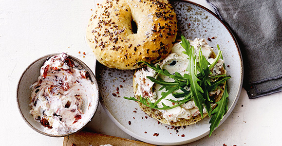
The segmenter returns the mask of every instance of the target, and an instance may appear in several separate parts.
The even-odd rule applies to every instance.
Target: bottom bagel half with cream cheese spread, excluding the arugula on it
[[[190,41],[190,45],[193,45],[194,48],[197,48],[197,49],[195,49],[196,55],[198,54],[200,47],[202,47],[202,51],[205,48],[207,48],[207,51],[205,53],[203,51],[203,55],[206,58],[212,58],[212,59],[216,58],[216,54],[212,51],[213,49],[209,45],[207,45],[207,42],[204,39],[196,38],[194,41]],[[208,52],[208,50],[210,50],[210,52]],[[184,55],[182,53],[182,51],[185,51],[185,50],[184,50],[184,48],[181,47],[180,43],[175,44],[172,47],[171,54],[169,56],[167,56],[164,60],[158,62],[157,64],[159,64],[162,69],[165,68],[169,72],[171,71],[170,73],[174,73],[175,71],[177,71],[179,73],[186,72],[185,71],[186,68],[187,68],[186,62],[188,62],[188,60],[187,60],[187,55]],[[176,62],[172,63],[173,62],[172,60],[176,60]],[[223,60],[220,60],[220,61],[222,61],[221,63],[223,63]],[[167,64],[166,67],[165,67],[165,64]],[[177,67],[177,68],[173,68],[173,67]],[[219,74],[226,74],[226,70],[224,69],[222,64],[219,65],[217,71],[214,71],[214,69],[212,69],[212,70],[213,70],[212,73],[217,72],[217,73],[213,74],[212,76],[219,75]],[[155,73],[155,71],[153,71],[149,67],[148,68],[147,67],[140,68],[140,69],[137,69],[135,71],[134,77],[133,77],[133,91],[134,91],[134,95],[135,95],[136,99],[140,100],[140,95],[143,98],[150,98],[150,100],[152,102],[154,102],[158,98],[160,98],[160,96],[161,96],[160,92],[161,91],[157,90],[157,89],[159,89],[160,85],[156,85],[154,82],[150,81],[150,79],[146,78],[146,76],[152,76],[152,77],[156,78],[157,75],[158,74]],[[164,79],[164,78],[162,77],[162,79]],[[159,86],[159,87],[157,87],[157,86]],[[225,84],[220,86],[220,88],[221,88],[221,90],[214,91],[213,93],[210,92],[210,96],[213,96],[213,98],[215,99],[215,102],[218,102],[221,99],[221,97],[223,95],[223,91],[225,89]],[[176,99],[173,99],[173,100],[176,100]],[[165,105],[169,105],[168,102],[170,102],[170,101],[163,99],[163,100],[161,100],[161,102],[163,102]],[[169,112],[167,112],[166,110],[151,109],[150,107],[147,107],[140,102],[138,102],[138,104],[139,104],[141,110],[143,110],[145,113],[147,113],[150,117],[160,121],[161,123],[172,125],[172,126],[186,126],[186,125],[195,124],[196,122],[202,120],[202,117],[201,117],[201,114],[199,113],[198,108],[194,105],[194,101],[190,100],[189,102],[191,102],[191,103],[186,103],[186,104],[192,105],[193,107],[190,107],[191,109],[188,109],[188,108],[185,109],[186,107],[189,107],[189,106],[185,105],[185,104],[179,106],[179,108],[181,108],[180,110],[178,109],[179,111],[181,111],[180,114],[184,113],[184,115],[177,116],[175,118],[172,118],[172,117],[175,116],[174,111],[173,112],[169,111],[169,112],[171,112],[171,115],[168,115],[167,113],[169,113]],[[215,106],[216,106],[215,104],[212,104],[212,108],[215,108]],[[178,107],[176,107],[176,108],[178,108]],[[193,114],[190,114],[190,113],[193,113]],[[190,114],[190,116],[188,117],[189,114]],[[206,116],[207,116],[207,113],[204,113],[203,118],[205,118]],[[171,119],[173,119],[173,120],[171,120]]]

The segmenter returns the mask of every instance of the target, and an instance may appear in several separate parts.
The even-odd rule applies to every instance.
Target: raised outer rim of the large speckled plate
[[[190,3],[192,5],[195,5],[197,7],[200,7],[204,10],[206,10],[208,13],[210,13],[211,15],[213,15],[215,18],[217,18],[222,24],[223,26],[226,28],[226,30],[229,32],[229,35],[232,37],[233,39],[233,42],[235,43],[236,45],[236,49],[237,49],[237,53],[239,55],[239,60],[240,60],[240,67],[241,67],[241,70],[240,70],[240,83],[239,83],[239,88],[238,90],[236,91],[236,94],[235,94],[235,98],[232,102],[232,104],[230,105],[230,108],[228,108],[228,110],[226,111],[226,114],[223,116],[220,124],[218,125],[218,127],[216,127],[215,129],[219,128],[221,126],[222,123],[225,122],[225,120],[228,118],[228,116],[231,114],[231,112],[233,111],[233,109],[235,108],[236,106],[236,103],[240,97],[240,94],[241,94],[241,91],[242,91],[242,87],[243,87],[243,79],[244,79],[244,66],[243,66],[243,58],[242,58],[242,54],[241,54],[241,50],[240,50],[240,47],[239,47],[239,43],[236,39],[236,37],[234,36],[234,34],[232,33],[231,29],[229,28],[229,25],[221,20],[214,12],[212,12],[211,10],[207,9],[205,6],[201,5],[201,4],[198,4],[198,3],[195,3],[195,2],[192,2],[192,1],[189,1],[189,0],[174,0],[174,1],[181,1],[181,2],[187,2],[187,3]],[[173,1],[173,2],[174,2]],[[96,67],[98,64],[100,64],[97,60],[96,60]],[[99,65],[98,65],[99,66]],[[97,72],[97,70],[95,70],[95,72]],[[96,73],[95,73],[96,74]],[[99,90],[101,90],[101,88],[99,88]],[[101,92],[101,91],[100,91]],[[108,110],[107,106],[104,104],[104,101],[103,101],[103,98],[102,98],[102,95],[100,96],[100,103],[103,107],[103,109],[105,110],[105,112],[107,113],[107,115],[110,117],[110,119],[113,121],[113,123],[118,127],[120,128],[121,130],[123,130],[125,133],[129,134],[130,136],[140,140],[140,141],[143,141],[143,142],[146,142],[146,143],[150,143],[150,144],[154,144],[154,145],[163,145],[163,146],[175,146],[175,145],[184,145],[184,144],[188,144],[188,143],[191,143],[191,142],[194,142],[196,140],[199,140],[205,136],[208,135],[209,133],[209,130],[207,130],[206,132],[204,132],[202,135],[198,136],[198,137],[195,137],[195,138],[192,138],[192,139],[189,139],[189,140],[183,140],[183,141],[179,141],[179,142],[172,142],[172,143],[156,143],[155,141],[151,141],[149,139],[146,139],[146,138],[143,138],[141,137],[140,135],[137,135],[135,133],[133,133],[132,131],[130,131],[129,129],[127,129],[126,127],[124,127],[121,123],[119,123],[119,121],[117,121],[113,114]],[[214,130],[215,130],[214,129]]]

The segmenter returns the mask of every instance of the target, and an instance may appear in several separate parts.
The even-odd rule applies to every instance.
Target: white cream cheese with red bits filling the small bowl
[[[49,134],[66,134],[85,125],[98,95],[88,72],[64,53],[44,63],[31,87],[30,113]]]

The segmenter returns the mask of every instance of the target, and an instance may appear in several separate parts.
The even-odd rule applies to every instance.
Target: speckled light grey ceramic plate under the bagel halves
[[[222,124],[234,109],[242,88],[243,64],[237,42],[226,25],[207,8],[185,1],[176,1],[173,5],[178,28],[185,37],[209,38],[210,46],[216,48],[219,44],[223,50],[227,74],[231,78],[227,83],[228,111]],[[133,73],[134,71],[110,69],[99,63],[96,67],[102,105],[119,128],[141,141],[155,145],[187,144],[208,134],[210,118],[204,118],[194,125],[174,128],[159,124],[140,110],[136,102],[124,99],[124,96],[134,96]]]

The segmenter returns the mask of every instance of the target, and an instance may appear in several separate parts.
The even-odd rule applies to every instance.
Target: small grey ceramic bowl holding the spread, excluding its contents
[[[84,118],[88,118],[87,122],[85,122],[83,125],[81,125],[80,128],[77,128],[75,131],[69,132],[69,133],[63,133],[63,134],[49,134],[44,132],[43,130],[43,126],[36,121],[32,115],[29,113],[29,110],[31,110],[31,107],[29,106],[30,101],[31,101],[31,91],[32,88],[30,88],[30,86],[36,82],[38,80],[38,76],[40,74],[40,67],[43,66],[44,62],[54,56],[54,55],[59,55],[59,54],[50,54],[50,55],[45,55],[42,56],[40,58],[38,58],[36,61],[34,61],[33,63],[31,63],[26,69],[25,71],[22,73],[20,79],[19,79],[19,83],[18,83],[18,89],[17,89],[17,103],[18,103],[18,108],[19,108],[19,112],[23,118],[23,120],[34,130],[36,130],[37,132],[43,134],[43,135],[47,135],[47,136],[51,136],[51,137],[64,137],[70,134],[73,134],[79,130],[81,130],[82,128],[84,128],[86,126],[87,123],[89,123],[99,104],[99,90],[98,90],[98,84],[95,78],[94,73],[91,71],[91,69],[85,64],[83,63],[81,60],[79,60],[78,58],[68,55],[69,58],[71,58],[72,60],[74,60],[75,62],[77,62],[78,64],[80,64],[90,75],[90,79],[93,82],[93,84],[96,86],[97,89],[97,94],[96,97],[93,97],[93,104],[92,106],[94,106],[94,108],[92,108],[93,111],[87,111],[87,112],[91,112],[91,114],[88,114],[88,117],[84,117]]]

